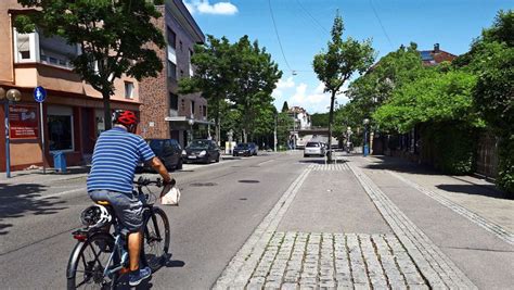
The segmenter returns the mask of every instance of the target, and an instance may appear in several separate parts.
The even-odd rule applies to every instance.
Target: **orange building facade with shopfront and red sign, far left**
[[[25,12],[16,0],[0,1],[0,87],[22,92],[22,100],[9,105],[11,168],[40,166],[43,160],[51,166],[52,153],[56,151],[65,153],[68,165],[87,163],[98,135],[104,129],[102,96],[73,73],[69,60],[79,53],[77,46],[56,37],[47,38],[39,31],[16,31],[14,18]],[[42,104],[43,124],[39,124],[40,111],[33,96],[38,86],[48,93]],[[115,89],[112,109],[139,111],[136,79],[117,79]],[[0,117],[4,118],[3,110]],[[0,127],[4,131],[3,122]],[[1,171],[5,171],[5,135],[1,135]]]

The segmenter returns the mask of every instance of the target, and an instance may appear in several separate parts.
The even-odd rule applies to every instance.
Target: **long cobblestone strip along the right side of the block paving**
[[[454,263],[360,168],[352,164],[349,164],[349,166],[432,288],[476,289],[473,282]],[[404,260],[407,259],[408,256],[406,255]],[[400,262],[401,259],[398,260],[401,268]],[[419,282],[414,276],[406,275],[406,280],[408,285],[416,285]]]

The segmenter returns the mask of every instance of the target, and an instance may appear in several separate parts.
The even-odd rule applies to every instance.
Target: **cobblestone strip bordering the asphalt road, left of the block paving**
[[[221,276],[213,286],[213,289],[228,289],[231,287],[242,289],[246,286],[255,267],[259,263],[268,242],[279,226],[280,220],[286,213],[288,206],[298,192],[298,189],[301,187],[311,169],[312,165],[307,167],[298,178],[293,181],[279,202],[277,202],[270,213],[262,219],[252,236],[230,261],[229,265],[224,268]]]

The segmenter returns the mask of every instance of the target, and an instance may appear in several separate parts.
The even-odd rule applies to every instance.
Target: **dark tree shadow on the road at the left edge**
[[[54,214],[66,207],[55,206],[64,203],[57,198],[40,199],[41,191],[47,186],[37,184],[10,185],[0,184],[0,236],[9,234],[12,224],[7,220],[25,216],[27,213],[34,215]]]

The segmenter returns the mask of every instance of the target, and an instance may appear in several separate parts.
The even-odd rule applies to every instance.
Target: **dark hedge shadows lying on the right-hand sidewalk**
[[[374,156],[380,160],[380,162],[372,163],[367,165],[367,168],[370,169],[387,169],[398,173],[410,173],[416,175],[427,175],[427,176],[449,176],[455,180],[461,182],[466,182],[467,185],[459,184],[440,184],[437,186],[440,190],[455,192],[455,193],[463,193],[463,194],[476,194],[476,196],[484,196],[489,198],[496,199],[509,199],[505,192],[497,189],[492,185],[483,185],[483,184],[474,184],[464,178],[460,178],[458,176],[445,175],[441,172],[438,172],[434,167],[426,165],[426,164],[417,164],[413,162],[409,162],[406,160],[401,160],[399,157],[389,157],[389,156]]]

